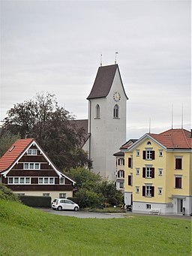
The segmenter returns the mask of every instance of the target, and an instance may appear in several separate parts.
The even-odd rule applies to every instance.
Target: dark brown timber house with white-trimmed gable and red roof
[[[74,180],[60,172],[34,139],[20,139],[0,158],[0,182],[15,194],[72,197]]]

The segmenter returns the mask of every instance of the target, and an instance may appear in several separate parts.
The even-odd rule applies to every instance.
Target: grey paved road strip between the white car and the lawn
[[[55,215],[62,215],[62,216],[71,216],[77,218],[124,218],[126,217],[126,213],[119,212],[119,213],[103,213],[103,212],[74,212],[74,211],[57,211],[54,209],[46,209],[46,208],[38,208],[43,212],[49,212]]]

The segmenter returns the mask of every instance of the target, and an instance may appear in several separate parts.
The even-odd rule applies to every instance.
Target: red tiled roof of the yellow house
[[[191,149],[192,138],[190,131],[184,129],[170,129],[161,134],[149,134],[167,149]]]

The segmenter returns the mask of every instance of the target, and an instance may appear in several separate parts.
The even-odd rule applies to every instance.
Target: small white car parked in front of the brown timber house
[[[62,209],[72,209],[77,212],[79,211],[80,206],[65,198],[55,198],[52,202],[52,209],[58,209],[58,211],[62,211]]]

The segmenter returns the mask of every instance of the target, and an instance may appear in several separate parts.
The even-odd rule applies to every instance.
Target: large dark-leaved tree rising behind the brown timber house
[[[55,95],[37,94],[34,100],[24,101],[7,111],[1,136],[9,131],[21,138],[32,137],[43,148],[55,165],[63,169],[77,166],[92,166],[80,144],[85,131],[77,128],[74,116],[59,107]]]

